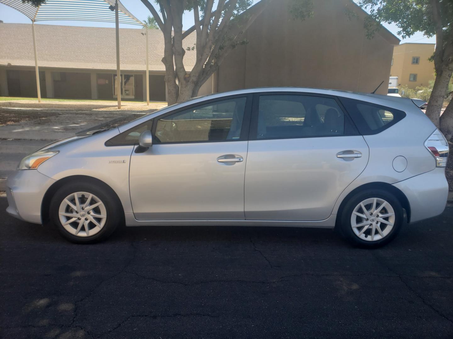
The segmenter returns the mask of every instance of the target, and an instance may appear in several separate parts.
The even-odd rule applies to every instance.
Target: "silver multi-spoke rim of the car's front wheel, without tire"
[[[107,220],[104,203],[96,195],[87,192],[69,194],[61,202],[58,215],[66,231],[81,237],[95,235]]]

